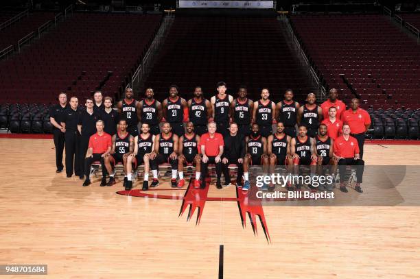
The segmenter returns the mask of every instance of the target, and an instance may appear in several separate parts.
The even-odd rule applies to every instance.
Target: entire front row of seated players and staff
[[[86,180],[83,186],[88,186],[89,171],[91,163],[94,160],[100,160],[102,164],[103,178],[101,186],[111,186],[115,184],[111,162],[115,165],[121,162],[124,165],[124,186],[126,190],[132,189],[132,169],[141,163],[144,163],[143,190],[147,190],[148,175],[152,169],[153,180],[151,187],[159,185],[158,168],[162,163],[170,163],[172,168],[172,187],[182,188],[185,185],[183,177],[183,168],[185,164],[196,165],[196,179],[194,187],[204,189],[207,176],[207,167],[209,162],[213,162],[216,167],[218,189],[222,189],[221,176],[224,174],[224,186],[231,184],[228,166],[236,164],[237,186],[242,186],[242,175],[244,185],[242,189],[247,191],[250,188],[249,167],[250,165],[261,165],[264,173],[274,173],[275,165],[288,165],[289,173],[296,173],[297,168],[291,168],[298,165],[318,165],[318,174],[322,173],[322,165],[331,165],[331,173],[336,172],[336,165],[345,167],[345,165],[364,165],[360,160],[358,143],[355,138],[349,136],[349,125],[343,128],[343,135],[337,138],[339,144],[334,144],[334,139],[327,135],[327,125],[320,125],[319,135],[311,138],[307,135],[305,125],[299,126],[298,136],[291,138],[284,133],[282,122],[277,123],[277,132],[274,135],[265,138],[260,134],[259,125],[252,125],[250,136],[244,137],[238,134],[237,123],[231,123],[229,135],[222,137],[216,133],[216,124],[208,124],[209,132],[202,137],[194,132],[194,125],[187,123],[187,132],[178,138],[172,133],[169,123],[163,123],[162,132],[156,136],[150,133],[150,126],[147,123],[141,125],[141,133],[133,138],[128,134],[125,119],[119,121],[119,132],[108,139],[106,144],[95,143],[101,141],[101,138],[110,138],[110,135],[103,132],[103,121],[97,121],[97,134],[91,136],[89,149],[85,159]],[[213,143],[214,144],[213,144]],[[345,145],[342,146],[342,144]],[[95,148],[100,150],[96,150]],[[212,153],[211,149],[216,152]],[[336,151],[334,151],[336,150]],[[217,154],[216,156],[214,156]],[[110,174],[109,182],[106,182],[106,171]],[[202,173],[200,172],[202,171]],[[314,173],[315,169],[311,169]],[[340,172],[342,171],[340,167]],[[345,169],[343,170],[345,171]],[[177,174],[179,176],[178,184],[176,182]],[[340,175],[340,178],[345,175]],[[201,180],[201,182],[200,182]],[[356,191],[362,192],[360,183],[362,182],[362,173],[358,173],[358,184]],[[340,190],[346,192],[344,180],[341,181]],[[300,185],[296,185],[299,189]],[[264,185],[263,190],[273,190],[273,186]],[[321,185],[320,191],[331,191],[332,187]],[[292,185],[288,185],[288,190],[292,191]]]

